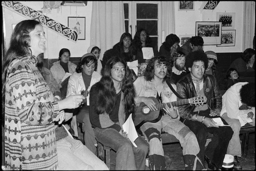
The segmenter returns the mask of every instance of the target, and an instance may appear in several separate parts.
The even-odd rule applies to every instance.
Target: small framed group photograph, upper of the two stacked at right
[[[216,19],[222,22],[222,30],[235,29],[235,13],[217,13]]]

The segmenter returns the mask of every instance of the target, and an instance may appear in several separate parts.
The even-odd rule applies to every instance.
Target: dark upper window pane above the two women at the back
[[[137,19],[158,19],[157,4],[137,4]]]

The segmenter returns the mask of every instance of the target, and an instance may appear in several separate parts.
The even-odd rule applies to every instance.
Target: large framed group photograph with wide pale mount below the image
[[[203,45],[221,44],[221,22],[195,22],[195,36],[203,38]]]

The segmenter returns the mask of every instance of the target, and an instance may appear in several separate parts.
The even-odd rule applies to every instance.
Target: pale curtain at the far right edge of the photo
[[[255,2],[244,1],[243,16],[243,51],[253,48],[253,36],[255,34]]]

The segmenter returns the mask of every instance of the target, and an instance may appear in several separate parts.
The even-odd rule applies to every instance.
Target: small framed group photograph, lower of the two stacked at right
[[[221,31],[221,44],[217,45],[217,47],[221,46],[235,46],[235,30],[222,30]]]

